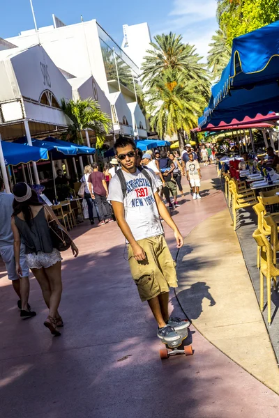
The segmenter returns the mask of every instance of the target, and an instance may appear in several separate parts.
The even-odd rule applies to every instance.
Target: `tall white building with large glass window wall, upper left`
[[[92,77],[96,84],[94,91],[99,89],[99,96],[103,91],[110,101],[114,133],[147,137],[144,114],[137,104],[136,85],[140,69],[96,20],[70,26],[47,26],[39,29],[38,33],[24,31],[7,41],[21,48],[39,41],[81,98],[92,97],[92,84],[86,83]],[[84,83],[75,82],[75,78],[84,80]],[[86,86],[90,86],[88,93]],[[133,106],[130,105],[132,103]],[[105,100],[103,103],[100,101],[100,107],[107,113]],[[131,108],[137,109],[133,115]]]

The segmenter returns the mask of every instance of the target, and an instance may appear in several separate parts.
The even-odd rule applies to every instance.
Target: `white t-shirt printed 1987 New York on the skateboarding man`
[[[144,238],[154,237],[164,233],[160,224],[160,217],[153,193],[157,192],[158,183],[156,178],[149,171],[149,181],[144,174],[137,170],[135,173],[126,173],[122,170],[126,180],[127,193],[123,201],[121,183],[118,176],[110,180],[110,189],[107,200],[123,203],[125,210],[125,219],[136,241]],[[152,192],[153,190],[153,192]]]

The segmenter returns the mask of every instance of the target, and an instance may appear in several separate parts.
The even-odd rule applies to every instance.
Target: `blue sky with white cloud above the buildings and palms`
[[[54,13],[65,24],[97,19],[121,44],[122,25],[148,22],[151,35],[174,31],[205,55],[217,29],[216,0],[33,0],[38,27],[52,24]],[[1,8],[0,37],[33,29],[29,0],[9,0]]]

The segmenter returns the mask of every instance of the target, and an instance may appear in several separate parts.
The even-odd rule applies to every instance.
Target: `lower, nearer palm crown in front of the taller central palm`
[[[206,100],[197,91],[195,80],[187,80],[183,72],[166,70],[156,86],[146,93],[151,127],[163,137],[176,134],[179,148],[184,146],[184,132],[197,126],[197,116],[202,114]]]

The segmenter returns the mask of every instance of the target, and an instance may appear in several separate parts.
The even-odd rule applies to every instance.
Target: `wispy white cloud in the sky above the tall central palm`
[[[206,62],[209,43],[218,29],[216,8],[216,0],[174,0],[167,22],[154,28],[153,35],[169,31],[181,33],[184,42],[195,45],[199,55],[204,57],[202,61]]]

